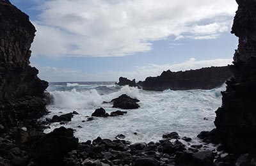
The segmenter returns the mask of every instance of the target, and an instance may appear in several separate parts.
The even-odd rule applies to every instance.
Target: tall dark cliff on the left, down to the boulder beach
[[[0,124],[5,132],[46,112],[48,82],[29,66],[35,32],[28,15],[0,0]]]

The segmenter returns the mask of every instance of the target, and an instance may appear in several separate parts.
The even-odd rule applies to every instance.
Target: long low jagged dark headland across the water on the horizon
[[[167,70],[157,77],[147,77],[145,81],[135,83],[135,80],[128,80],[120,77],[117,83],[120,86],[129,85],[142,87],[148,91],[189,90],[189,89],[213,89],[220,87],[226,80],[232,77],[228,66],[201,68],[185,72],[171,72]]]

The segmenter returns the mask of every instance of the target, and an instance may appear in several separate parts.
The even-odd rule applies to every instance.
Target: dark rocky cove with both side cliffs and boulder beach
[[[158,142],[131,144],[125,135],[116,135],[116,140],[98,137],[79,142],[71,128],[43,132],[45,124],[70,121],[77,112],[49,122],[37,120],[47,114],[45,106],[51,96],[45,93],[48,83],[29,66],[29,49],[36,30],[28,15],[9,1],[0,1],[0,165],[255,165],[256,2],[237,3],[232,33],[239,37],[239,45],[230,66],[234,77],[227,81],[227,90],[222,93],[216,128],[198,133],[200,144],[189,144],[189,137],[180,138],[175,131],[166,133]],[[138,107],[137,102],[128,98],[132,108]],[[125,112],[113,115],[125,116]],[[108,115],[99,109],[92,116]],[[216,148],[209,150],[212,144]]]

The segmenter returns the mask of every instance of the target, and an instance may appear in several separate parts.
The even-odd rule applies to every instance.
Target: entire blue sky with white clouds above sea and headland
[[[235,0],[10,0],[37,32],[31,65],[54,81],[144,80],[232,62]]]

